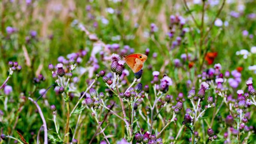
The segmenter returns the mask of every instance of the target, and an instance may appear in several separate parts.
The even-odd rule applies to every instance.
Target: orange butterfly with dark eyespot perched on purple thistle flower
[[[124,56],[125,63],[132,69],[134,73],[137,73],[141,70],[146,60],[147,56],[140,53]]]

